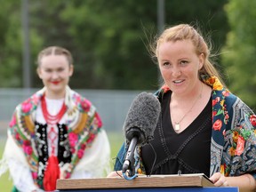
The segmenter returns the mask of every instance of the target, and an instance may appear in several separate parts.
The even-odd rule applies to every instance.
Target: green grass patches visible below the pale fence
[[[120,132],[108,132],[108,138],[111,145],[111,157],[114,159],[116,154],[121,147],[124,137]],[[5,140],[0,140],[0,159],[2,159],[2,154],[4,150]],[[115,160],[113,160],[114,164]],[[0,177],[0,191],[1,192],[11,192],[12,191],[12,180],[9,180],[9,173],[6,172]]]

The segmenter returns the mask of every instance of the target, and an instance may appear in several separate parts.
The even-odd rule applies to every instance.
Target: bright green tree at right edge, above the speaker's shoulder
[[[256,108],[256,1],[232,0],[225,6],[230,31],[227,44],[223,47],[223,65],[228,71],[230,90]],[[253,69],[254,68],[254,69]]]

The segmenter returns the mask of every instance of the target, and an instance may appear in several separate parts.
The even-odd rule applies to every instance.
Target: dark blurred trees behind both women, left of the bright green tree
[[[0,86],[22,87],[21,1],[4,1],[0,9]],[[157,35],[156,0],[33,0],[29,5],[32,86],[36,54],[57,44],[72,52],[75,74],[70,85],[86,89],[149,90],[159,85],[156,63],[148,53]],[[165,0],[165,24],[194,23],[211,36],[214,50],[228,31],[227,0]],[[8,12],[8,15],[6,15]],[[209,34],[209,31],[210,34]]]

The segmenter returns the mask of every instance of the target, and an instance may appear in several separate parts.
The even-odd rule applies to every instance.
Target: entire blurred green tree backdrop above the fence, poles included
[[[57,44],[73,53],[75,89],[156,90],[148,46],[164,28],[199,27],[212,39],[230,90],[256,108],[256,1],[8,0],[0,6],[0,87],[41,87],[36,55]]]

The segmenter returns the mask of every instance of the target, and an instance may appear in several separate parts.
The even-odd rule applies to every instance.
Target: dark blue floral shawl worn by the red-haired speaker
[[[220,84],[217,77],[204,79],[212,87],[212,143],[210,175],[225,176],[251,173],[256,179],[256,116],[242,100]],[[170,89],[164,85],[156,96]],[[116,158],[115,170],[122,170],[127,146],[123,144]],[[145,173],[140,147],[135,155],[136,172]]]

